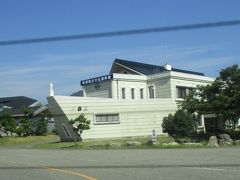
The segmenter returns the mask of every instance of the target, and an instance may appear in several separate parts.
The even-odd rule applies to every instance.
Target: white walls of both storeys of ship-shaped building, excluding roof
[[[112,79],[83,85],[86,97],[53,96],[48,101],[53,116],[57,117],[56,127],[60,128],[58,131],[62,136],[64,132],[61,132],[61,125],[80,113],[84,113],[91,121],[91,129],[82,135],[85,139],[145,136],[151,135],[153,129],[161,134],[163,117],[177,110],[176,87],[195,88],[213,80],[206,76],[173,71],[150,76],[114,73]],[[154,99],[149,99],[150,85],[154,86]],[[122,88],[125,88],[125,99],[122,99]],[[143,99],[140,99],[140,89],[144,90]],[[96,124],[96,115],[116,114],[119,123]]]

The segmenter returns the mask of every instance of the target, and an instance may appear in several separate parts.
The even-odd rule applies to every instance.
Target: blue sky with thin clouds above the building
[[[0,41],[240,19],[238,0],[0,1]],[[240,26],[0,46],[0,97],[46,103],[108,74],[115,58],[203,72],[240,62]]]

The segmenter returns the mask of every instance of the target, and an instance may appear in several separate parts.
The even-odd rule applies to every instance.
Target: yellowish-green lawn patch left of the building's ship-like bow
[[[0,138],[0,146],[14,146],[14,145],[49,142],[49,141],[59,142],[59,137],[56,135],[28,136],[28,137],[17,137],[17,136],[2,137]]]

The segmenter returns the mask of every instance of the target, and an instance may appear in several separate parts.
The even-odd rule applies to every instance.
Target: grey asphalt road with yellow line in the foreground
[[[33,150],[0,148],[0,180],[240,179],[240,148]]]

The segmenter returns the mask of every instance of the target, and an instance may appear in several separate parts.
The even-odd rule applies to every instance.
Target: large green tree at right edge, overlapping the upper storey
[[[180,106],[190,113],[215,114],[235,125],[240,118],[240,69],[233,65],[222,69],[219,77],[207,86],[199,86]]]

